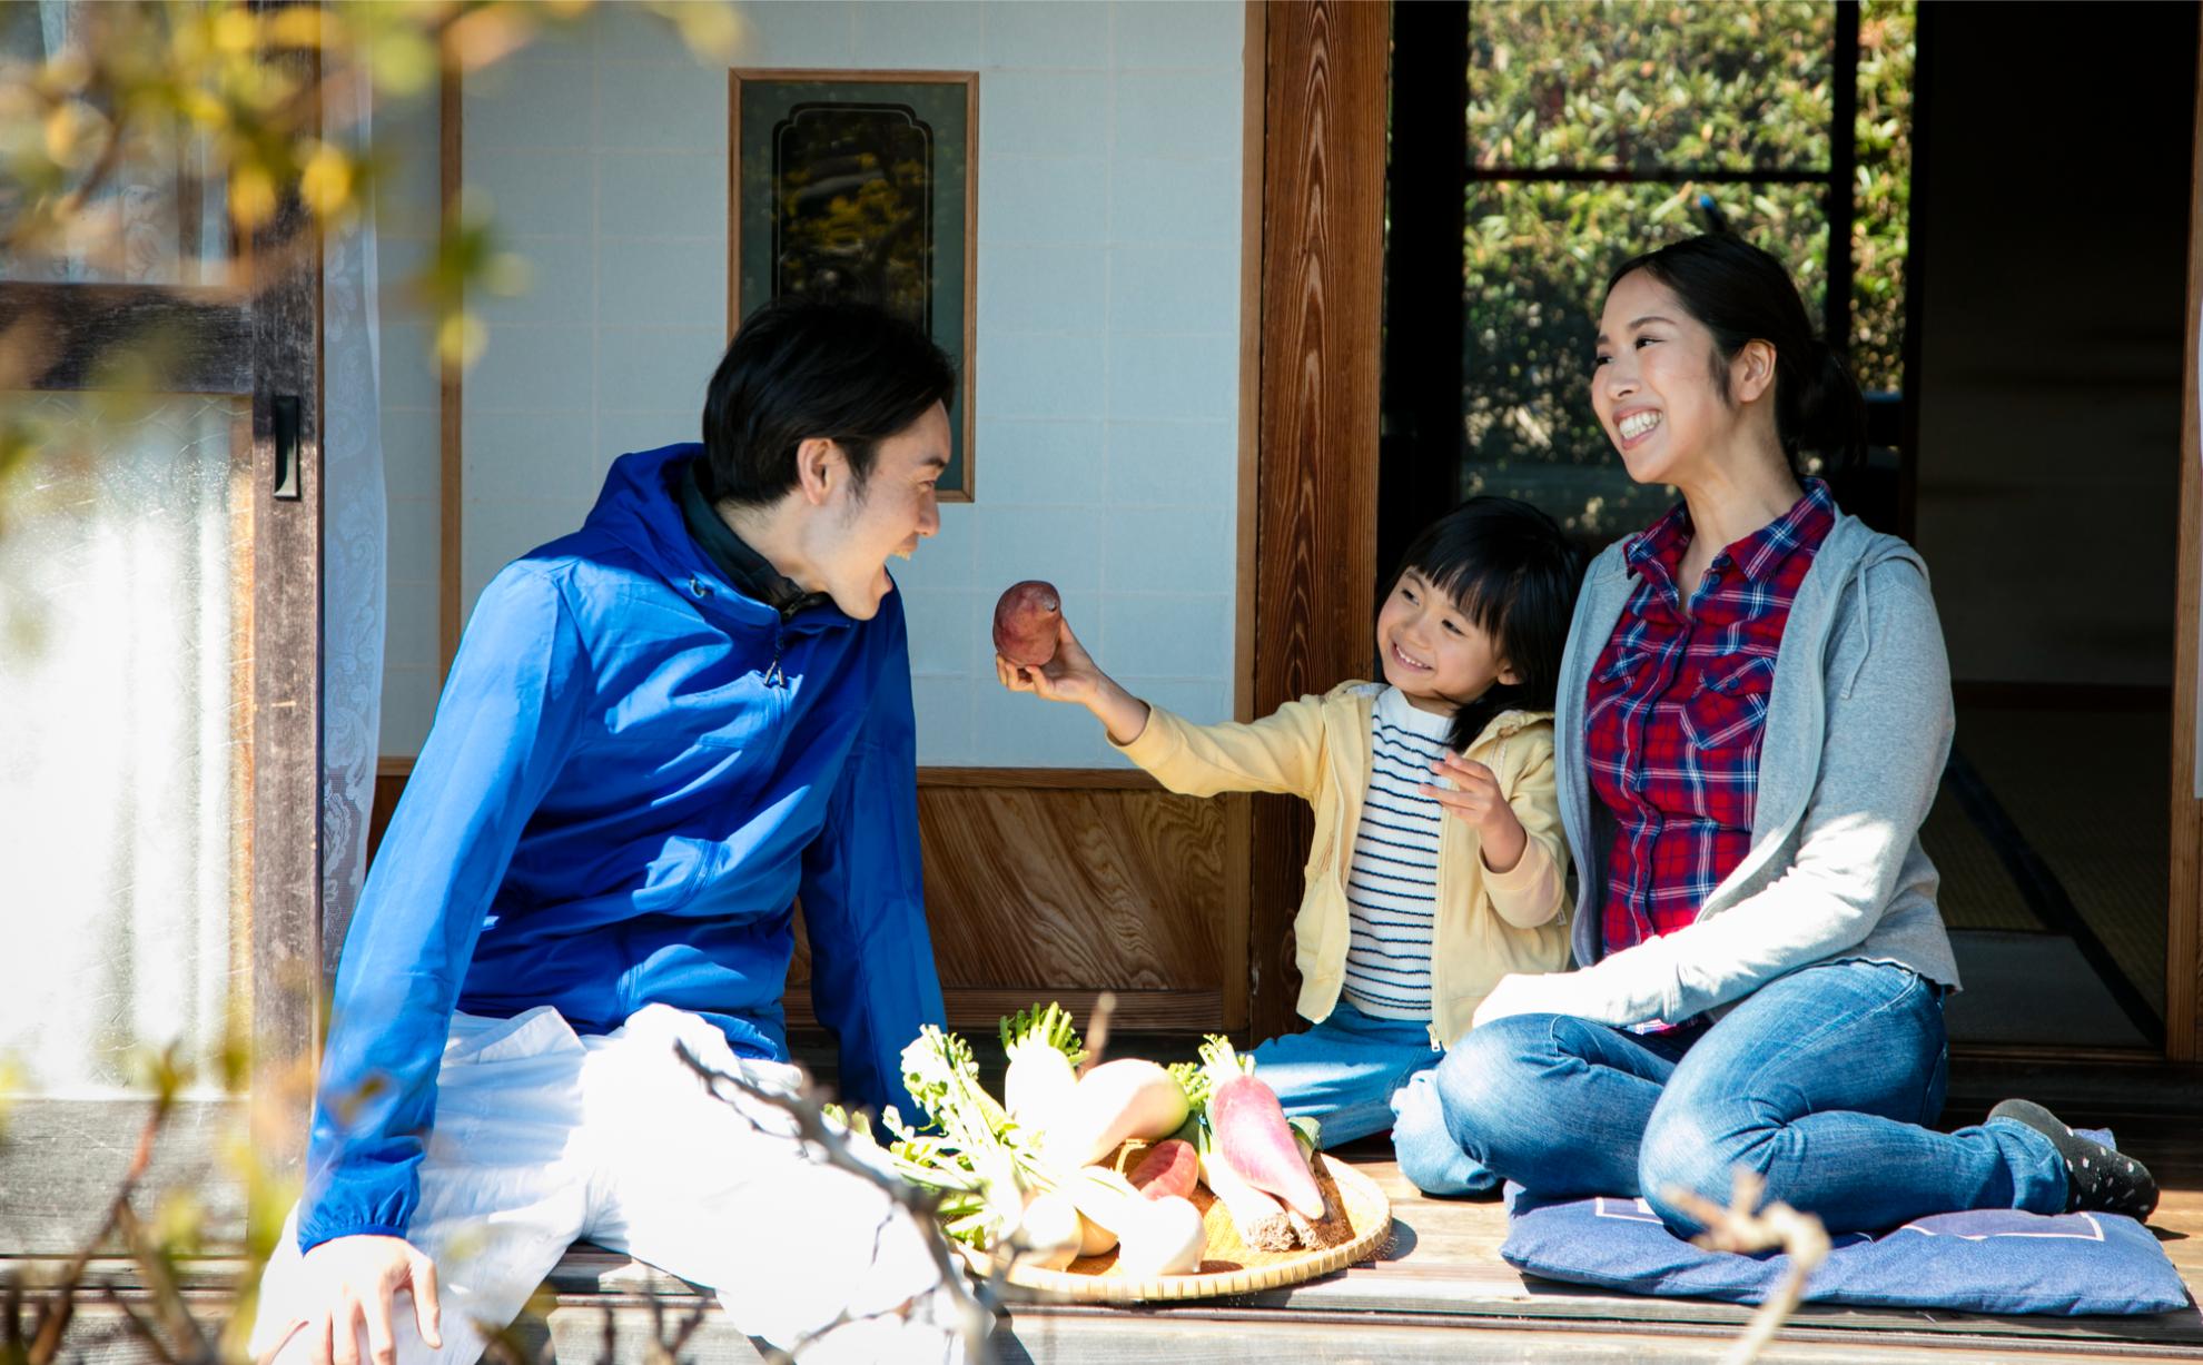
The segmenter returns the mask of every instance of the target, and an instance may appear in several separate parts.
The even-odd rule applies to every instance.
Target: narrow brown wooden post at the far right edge
[[[2203,55],[2199,55],[2203,64]],[[2203,1057],[2203,801],[2196,799],[2196,649],[2203,632],[2203,81],[2194,123],[2188,214],[2188,370],[2181,414],[2179,627],[2172,685],[2172,905],[2166,922],[2166,1055]]]

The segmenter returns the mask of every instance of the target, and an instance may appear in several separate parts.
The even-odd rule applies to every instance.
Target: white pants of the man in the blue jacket
[[[806,1156],[778,1110],[709,1096],[674,1039],[751,1083],[795,1083],[793,1066],[740,1061],[712,1024],[663,1004],[604,1037],[577,1037],[549,1006],[454,1017],[408,1233],[436,1262],[445,1345],[421,1341],[401,1295],[399,1361],[474,1361],[485,1328],[511,1323],[584,1237],[718,1290],[736,1328],[780,1347],[848,1314],[806,1363],[958,1361],[930,1233],[870,1182]],[[308,1310],[293,1209],[260,1284],[251,1354]],[[359,1352],[366,1361],[363,1332]],[[311,1361],[304,1334],[280,1358]]]

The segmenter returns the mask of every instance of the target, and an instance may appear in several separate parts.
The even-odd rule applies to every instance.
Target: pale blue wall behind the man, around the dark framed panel
[[[1240,4],[806,0],[742,18],[745,68],[980,73],[978,502],[945,506],[894,566],[919,760],[1119,762],[1084,711],[996,682],[994,597],[1027,577],[1064,590],[1128,687],[1229,716]],[[727,73],[604,7],[469,77],[465,156],[533,266],[527,297],[487,308],[467,376],[471,603],[582,520],[612,456],[696,434],[727,328]]]

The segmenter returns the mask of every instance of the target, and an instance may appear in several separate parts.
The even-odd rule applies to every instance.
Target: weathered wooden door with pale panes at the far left
[[[101,22],[11,7],[0,46],[37,62]],[[35,434],[0,487],[0,1255],[99,1226],[165,1044],[194,1079],[148,1184],[198,1195],[214,1237],[240,1228],[218,1151],[245,1101],[269,1105],[275,1176],[306,1127],[319,253],[295,196],[236,240],[214,159],[176,132],[90,198],[119,233],[0,258],[0,403]]]

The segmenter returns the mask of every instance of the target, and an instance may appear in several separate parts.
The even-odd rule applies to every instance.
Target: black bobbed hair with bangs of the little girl
[[[1386,579],[1383,597],[1414,572],[1476,623],[1520,682],[1494,682],[1454,713],[1445,746],[1467,751],[1502,711],[1551,711],[1584,555],[1560,524],[1516,498],[1469,498],[1423,528]],[[1381,599],[1379,599],[1381,601]],[[1383,676],[1379,663],[1377,676]]]

